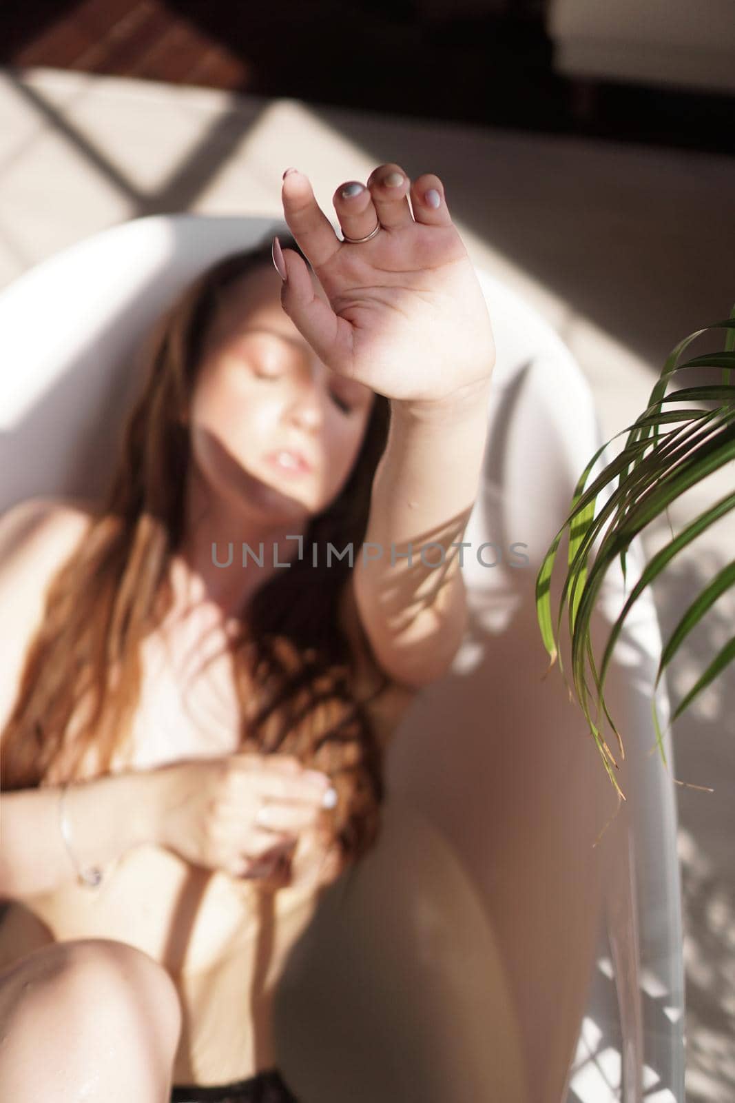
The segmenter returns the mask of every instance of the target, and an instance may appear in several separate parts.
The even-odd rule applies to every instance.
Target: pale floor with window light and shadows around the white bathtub
[[[671,347],[735,302],[735,162],[724,157],[43,68],[0,72],[0,286],[141,214],[279,216],[289,164],[333,217],[336,185],[388,160],[439,173],[475,263],[577,356],[607,437],[644,408]],[[734,529],[731,518],[657,591],[664,635],[692,587],[732,558]],[[674,667],[677,699],[727,623],[732,634],[733,604]],[[715,789],[679,795],[690,1103],[735,1093],[734,683],[674,729],[675,775]]]

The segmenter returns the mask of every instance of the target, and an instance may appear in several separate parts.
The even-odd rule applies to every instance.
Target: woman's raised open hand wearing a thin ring
[[[409,204],[410,196],[410,204]],[[317,280],[273,243],[283,309],[334,372],[388,398],[441,403],[487,386],[495,343],[479,282],[452,223],[439,176],[410,181],[381,164],[367,186],[341,184],[341,240],[307,176],[287,170],[283,213]]]

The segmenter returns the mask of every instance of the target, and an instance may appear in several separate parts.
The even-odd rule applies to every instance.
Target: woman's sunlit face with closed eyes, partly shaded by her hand
[[[321,513],[334,501],[375,400],[369,387],[318,360],[284,313],[280,289],[280,276],[264,265],[228,289],[188,408],[198,473],[246,513],[274,522]]]

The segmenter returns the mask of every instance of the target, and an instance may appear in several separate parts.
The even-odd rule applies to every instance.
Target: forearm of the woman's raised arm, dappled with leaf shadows
[[[464,630],[457,545],[477,495],[488,396],[489,383],[455,403],[391,404],[355,588],[376,653],[381,640],[403,642],[407,681],[443,671]],[[418,649],[423,636],[431,646]],[[391,662],[399,668],[397,650]]]

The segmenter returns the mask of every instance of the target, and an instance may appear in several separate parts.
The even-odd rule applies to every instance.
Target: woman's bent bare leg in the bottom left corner
[[[0,1099],[166,1103],[180,1032],[174,984],[148,954],[43,946],[0,973]]]

